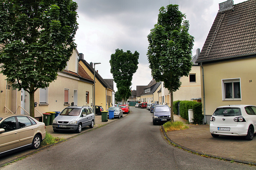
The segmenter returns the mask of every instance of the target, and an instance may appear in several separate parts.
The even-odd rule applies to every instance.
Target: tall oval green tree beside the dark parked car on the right
[[[171,96],[173,121],[173,92],[179,89],[180,77],[188,76],[192,63],[194,37],[188,33],[189,23],[178,5],[161,7],[158,22],[148,35],[148,61],[153,78],[164,83]]]

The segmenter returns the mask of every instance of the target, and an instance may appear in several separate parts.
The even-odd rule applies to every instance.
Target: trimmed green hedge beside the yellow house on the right
[[[174,113],[178,114],[178,102],[180,102],[180,116],[188,120],[188,109],[194,110],[194,124],[202,124],[204,115],[202,114],[202,103],[195,101],[175,101],[173,102]]]

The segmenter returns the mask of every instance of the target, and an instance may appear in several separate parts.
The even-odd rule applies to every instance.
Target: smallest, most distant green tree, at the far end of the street
[[[139,55],[137,51],[132,54],[131,51],[124,52],[122,49],[116,49],[116,53],[111,55],[110,72],[116,82],[118,94],[123,100],[131,94],[132,76],[138,69]]]

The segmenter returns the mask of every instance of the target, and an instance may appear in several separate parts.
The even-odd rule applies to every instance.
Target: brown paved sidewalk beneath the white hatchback
[[[174,115],[174,121],[184,120]],[[190,128],[180,131],[164,132],[166,138],[182,147],[182,149],[198,152],[235,162],[256,165],[256,136],[252,141],[246,141],[244,137],[221,136],[212,137],[210,125],[188,125]]]

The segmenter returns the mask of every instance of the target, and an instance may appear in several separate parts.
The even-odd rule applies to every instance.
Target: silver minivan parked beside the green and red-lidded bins
[[[76,131],[80,133],[83,127],[94,126],[94,113],[90,106],[68,106],[52,123],[54,132],[57,131]]]

